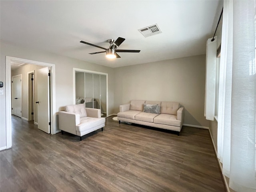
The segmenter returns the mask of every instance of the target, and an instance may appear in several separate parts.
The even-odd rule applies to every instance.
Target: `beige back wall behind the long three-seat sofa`
[[[130,100],[180,102],[184,124],[209,127],[204,117],[205,55],[114,68],[114,112]]]

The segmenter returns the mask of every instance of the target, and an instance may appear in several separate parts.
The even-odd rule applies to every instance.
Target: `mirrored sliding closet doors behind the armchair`
[[[100,109],[102,117],[108,116],[107,76],[108,74],[100,72],[74,69],[75,103]]]

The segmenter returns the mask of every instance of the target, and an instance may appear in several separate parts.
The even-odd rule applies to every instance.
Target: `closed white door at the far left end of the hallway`
[[[12,114],[18,117],[21,116],[21,86],[22,86],[21,75],[12,77]]]

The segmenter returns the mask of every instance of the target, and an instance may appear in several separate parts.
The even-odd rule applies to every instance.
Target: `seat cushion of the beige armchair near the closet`
[[[82,132],[86,129],[90,129],[94,126],[105,123],[105,118],[94,118],[94,117],[82,117],[80,118],[80,124],[76,126],[76,131]]]

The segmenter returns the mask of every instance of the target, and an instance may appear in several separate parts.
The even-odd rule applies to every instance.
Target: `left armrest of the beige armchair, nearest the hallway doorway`
[[[76,135],[76,125],[80,124],[80,114],[70,112],[59,112],[59,128],[60,130]]]

